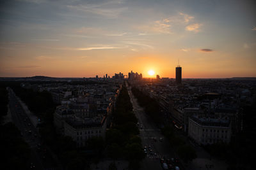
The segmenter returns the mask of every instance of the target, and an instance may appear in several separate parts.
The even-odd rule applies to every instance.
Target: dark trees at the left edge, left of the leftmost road
[[[28,169],[30,148],[21,138],[17,127],[9,122],[3,124],[4,116],[8,112],[8,91],[6,86],[0,84],[0,152],[1,169]]]

